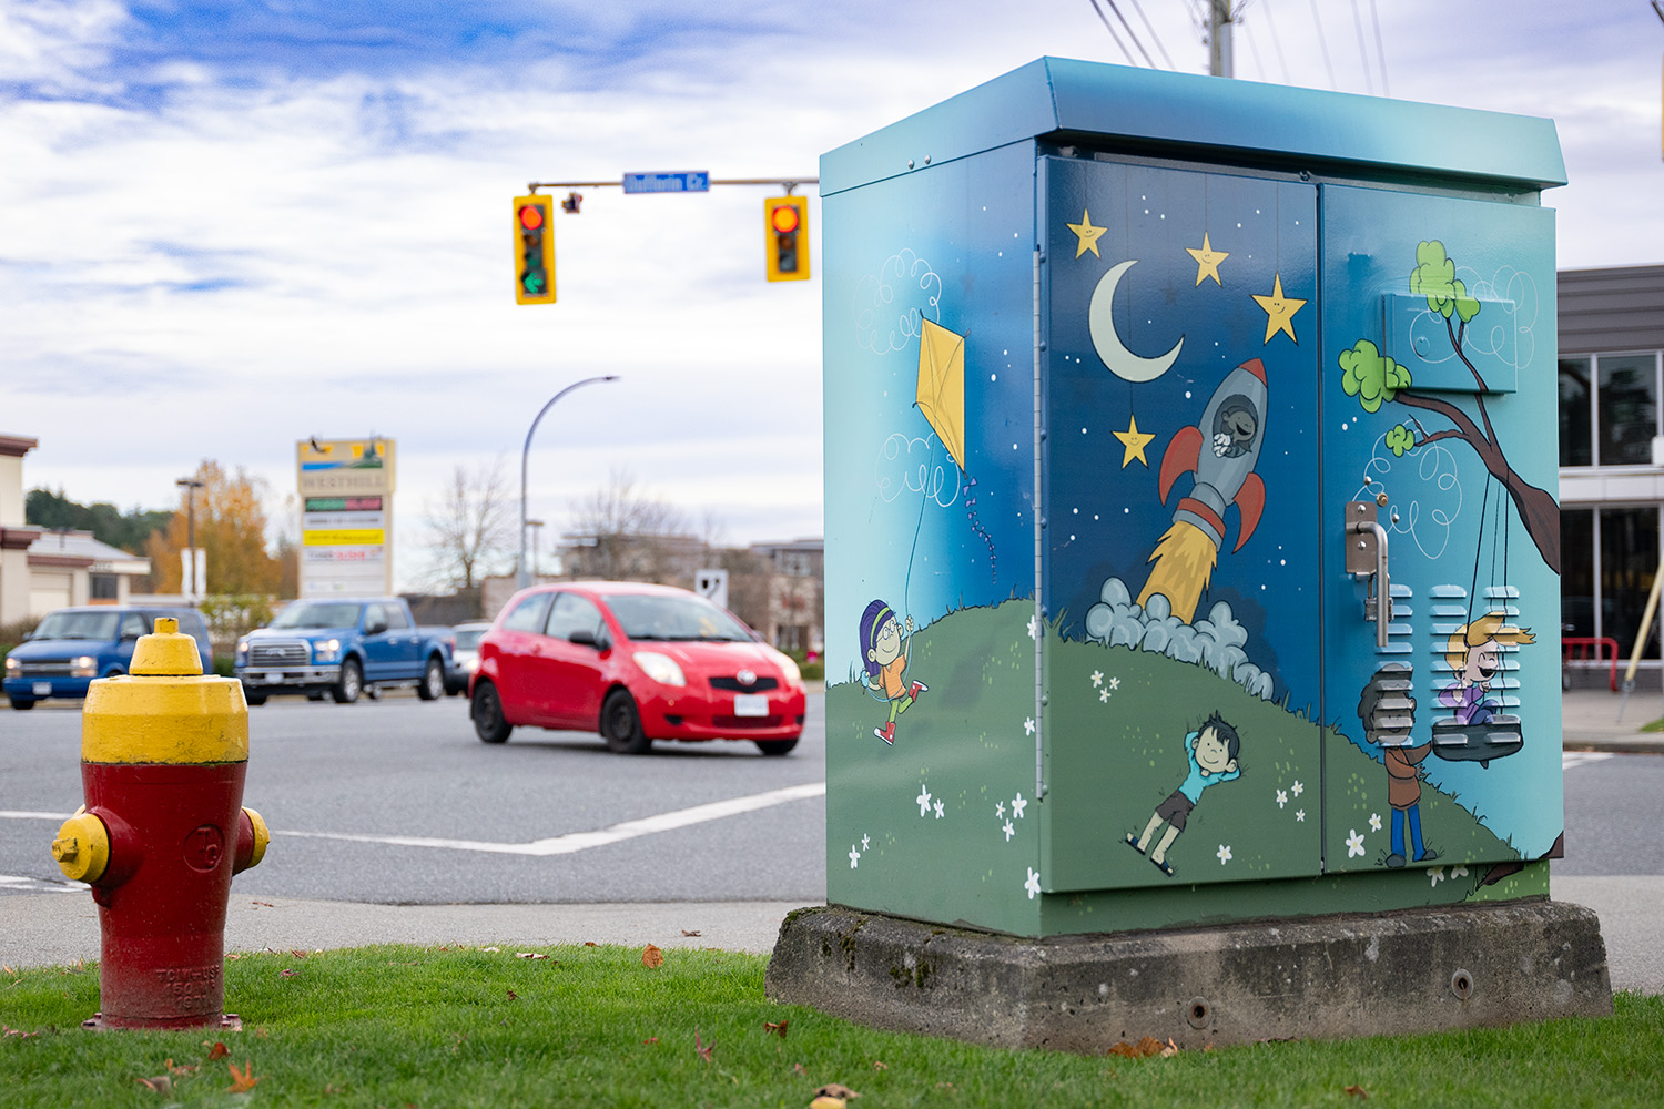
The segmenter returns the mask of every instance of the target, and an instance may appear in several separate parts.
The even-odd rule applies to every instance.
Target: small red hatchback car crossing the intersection
[[[642,582],[534,585],[479,640],[474,732],[596,728],[614,752],[654,740],[752,740],[785,755],[804,732],[797,663],[699,594]]]

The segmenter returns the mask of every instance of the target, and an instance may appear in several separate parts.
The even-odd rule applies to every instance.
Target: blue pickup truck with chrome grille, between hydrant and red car
[[[236,642],[235,672],[250,705],[273,693],[346,705],[399,687],[438,700],[451,648],[451,628],[416,627],[403,597],[296,600]]]

